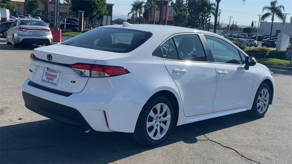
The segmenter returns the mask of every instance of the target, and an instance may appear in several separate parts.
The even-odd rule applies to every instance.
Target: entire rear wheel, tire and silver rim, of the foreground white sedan
[[[141,144],[156,146],[169,134],[173,120],[171,102],[166,97],[153,98],[143,107],[133,137]]]

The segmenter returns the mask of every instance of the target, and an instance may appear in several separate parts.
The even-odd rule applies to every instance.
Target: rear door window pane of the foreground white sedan
[[[197,34],[178,35],[173,37],[180,60],[206,62],[206,54]]]

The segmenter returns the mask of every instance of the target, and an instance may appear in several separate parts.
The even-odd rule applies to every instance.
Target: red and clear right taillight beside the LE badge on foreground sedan
[[[125,68],[116,66],[74,64],[71,68],[74,69],[80,76],[87,77],[110,77],[128,73]]]

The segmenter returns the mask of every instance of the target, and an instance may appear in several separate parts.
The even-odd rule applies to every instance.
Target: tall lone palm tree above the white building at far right
[[[284,14],[282,10],[285,10],[285,7],[283,5],[277,6],[278,1],[274,0],[270,2],[270,6],[264,6],[263,7],[263,13],[264,11],[268,11],[267,13],[263,14],[262,18],[260,19],[261,21],[264,21],[268,17],[272,16],[272,25],[271,25],[271,32],[270,32],[270,38],[272,37],[272,30],[273,30],[273,22],[274,22],[274,17],[277,17],[281,19],[283,22],[285,21]]]

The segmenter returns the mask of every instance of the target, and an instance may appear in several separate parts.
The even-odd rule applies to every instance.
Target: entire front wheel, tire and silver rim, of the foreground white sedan
[[[251,115],[253,117],[261,118],[265,116],[270,104],[270,94],[270,87],[267,84],[263,83],[258,88],[251,109]]]

